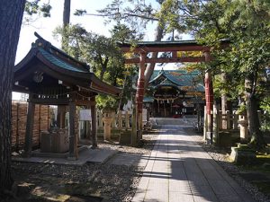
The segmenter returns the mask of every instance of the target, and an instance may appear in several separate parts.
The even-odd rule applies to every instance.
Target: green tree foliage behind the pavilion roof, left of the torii
[[[136,66],[124,66],[121,49],[117,46],[117,42],[120,40],[136,40],[134,32],[125,25],[117,24],[111,33],[112,38],[107,38],[94,32],[88,32],[79,24],[69,25],[64,29],[58,27],[54,31],[56,38],[64,34],[67,37],[67,44],[64,47],[67,54],[89,64],[90,71],[104,82],[124,89],[120,98],[97,96],[99,109],[107,110],[115,110],[119,107],[120,102],[130,100],[130,81],[136,70]]]

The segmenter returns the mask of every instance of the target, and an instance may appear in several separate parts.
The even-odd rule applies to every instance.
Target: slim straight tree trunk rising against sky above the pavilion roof
[[[66,49],[68,47],[68,36],[66,33],[67,26],[70,22],[70,1],[71,0],[65,0],[64,3],[64,12],[63,12],[63,36],[62,36],[62,49]]]

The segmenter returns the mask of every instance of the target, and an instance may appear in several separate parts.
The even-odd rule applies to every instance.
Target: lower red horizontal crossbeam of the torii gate
[[[204,57],[162,57],[162,58],[146,58],[146,63],[196,63],[204,62]],[[139,64],[139,58],[125,59],[125,64]]]

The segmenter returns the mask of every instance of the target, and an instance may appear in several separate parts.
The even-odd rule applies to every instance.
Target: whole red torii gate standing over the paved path
[[[223,42],[223,41],[222,41]],[[225,41],[226,42],[226,41]],[[137,137],[141,138],[142,131],[142,105],[144,96],[144,72],[147,63],[178,63],[178,62],[210,62],[210,47],[199,45],[195,40],[178,40],[178,41],[153,41],[139,42],[136,47],[128,43],[120,44],[123,52],[133,52],[139,54],[136,58],[125,59],[125,64],[139,64],[139,78],[136,92],[136,117],[137,117]],[[202,57],[178,57],[179,51],[202,51]],[[172,57],[148,58],[148,53],[152,52],[172,52]],[[213,89],[211,81],[211,71],[205,73],[205,101],[206,114],[208,120],[207,132],[210,133],[212,143],[212,109],[213,109]]]

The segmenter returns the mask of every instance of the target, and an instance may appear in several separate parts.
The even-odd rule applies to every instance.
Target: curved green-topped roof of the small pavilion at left
[[[119,95],[121,90],[98,79],[90,66],[54,47],[35,33],[37,40],[23,60],[14,67],[15,92],[43,89],[84,89],[85,92]],[[37,81],[40,76],[40,81]],[[71,91],[70,90],[70,91]]]

